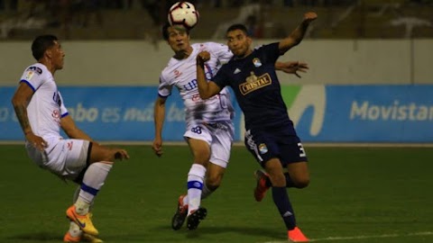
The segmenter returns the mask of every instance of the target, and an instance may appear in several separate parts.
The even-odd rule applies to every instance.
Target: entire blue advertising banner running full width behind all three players
[[[0,87],[0,140],[22,140],[11,98]],[[303,142],[433,142],[433,85],[283,85]],[[152,141],[155,86],[60,87],[69,114],[92,138]],[[235,97],[233,96],[233,99]],[[235,104],[235,139],[244,119]],[[182,141],[185,112],[178,92],[166,103],[163,139]]]

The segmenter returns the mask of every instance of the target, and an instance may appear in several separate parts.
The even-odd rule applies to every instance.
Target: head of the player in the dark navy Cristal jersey
[[[228,27],[226,31],[227,46],[238,58],[243,58],[250,54],[251,40],[248,30],[244,24],[236,23]]]

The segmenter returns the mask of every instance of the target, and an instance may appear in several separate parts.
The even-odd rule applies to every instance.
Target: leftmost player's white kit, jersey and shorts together
[[[32,131],[48,143],[48,147],[41,151],[26,142],[27,154],[38,166],[55,175],[76,179],[87,166],[89,141],[63,139],[60,136],[60,119],[68,115],[68,111],[54,77],[47,67],[36,63],[25,69],[21,82],[25,82],[34,91],[27,106]]]

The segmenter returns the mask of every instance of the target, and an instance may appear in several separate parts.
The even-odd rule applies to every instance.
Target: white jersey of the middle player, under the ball
[[[198,94],[196,57],[199,52],[207,50],[210,59],[205,64],[207,79],[216,75],[219,68],[233,57],[226,45],[205,42],[192,44],[192,53],[186,59],[170,58],[160,76],[158,94],[167,97],[171,89],[176,86],[183,99],[186,109],[186,121],[230,121],[234,115],[234,109],[227,88],[207,100],[202,100]]]

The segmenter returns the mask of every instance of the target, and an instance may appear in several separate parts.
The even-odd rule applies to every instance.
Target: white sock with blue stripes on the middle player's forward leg
[[[193,164],[188,173],[188,215],[191,211],[198,210],[201,201],[203,179],[206,175],[206,167]]]

